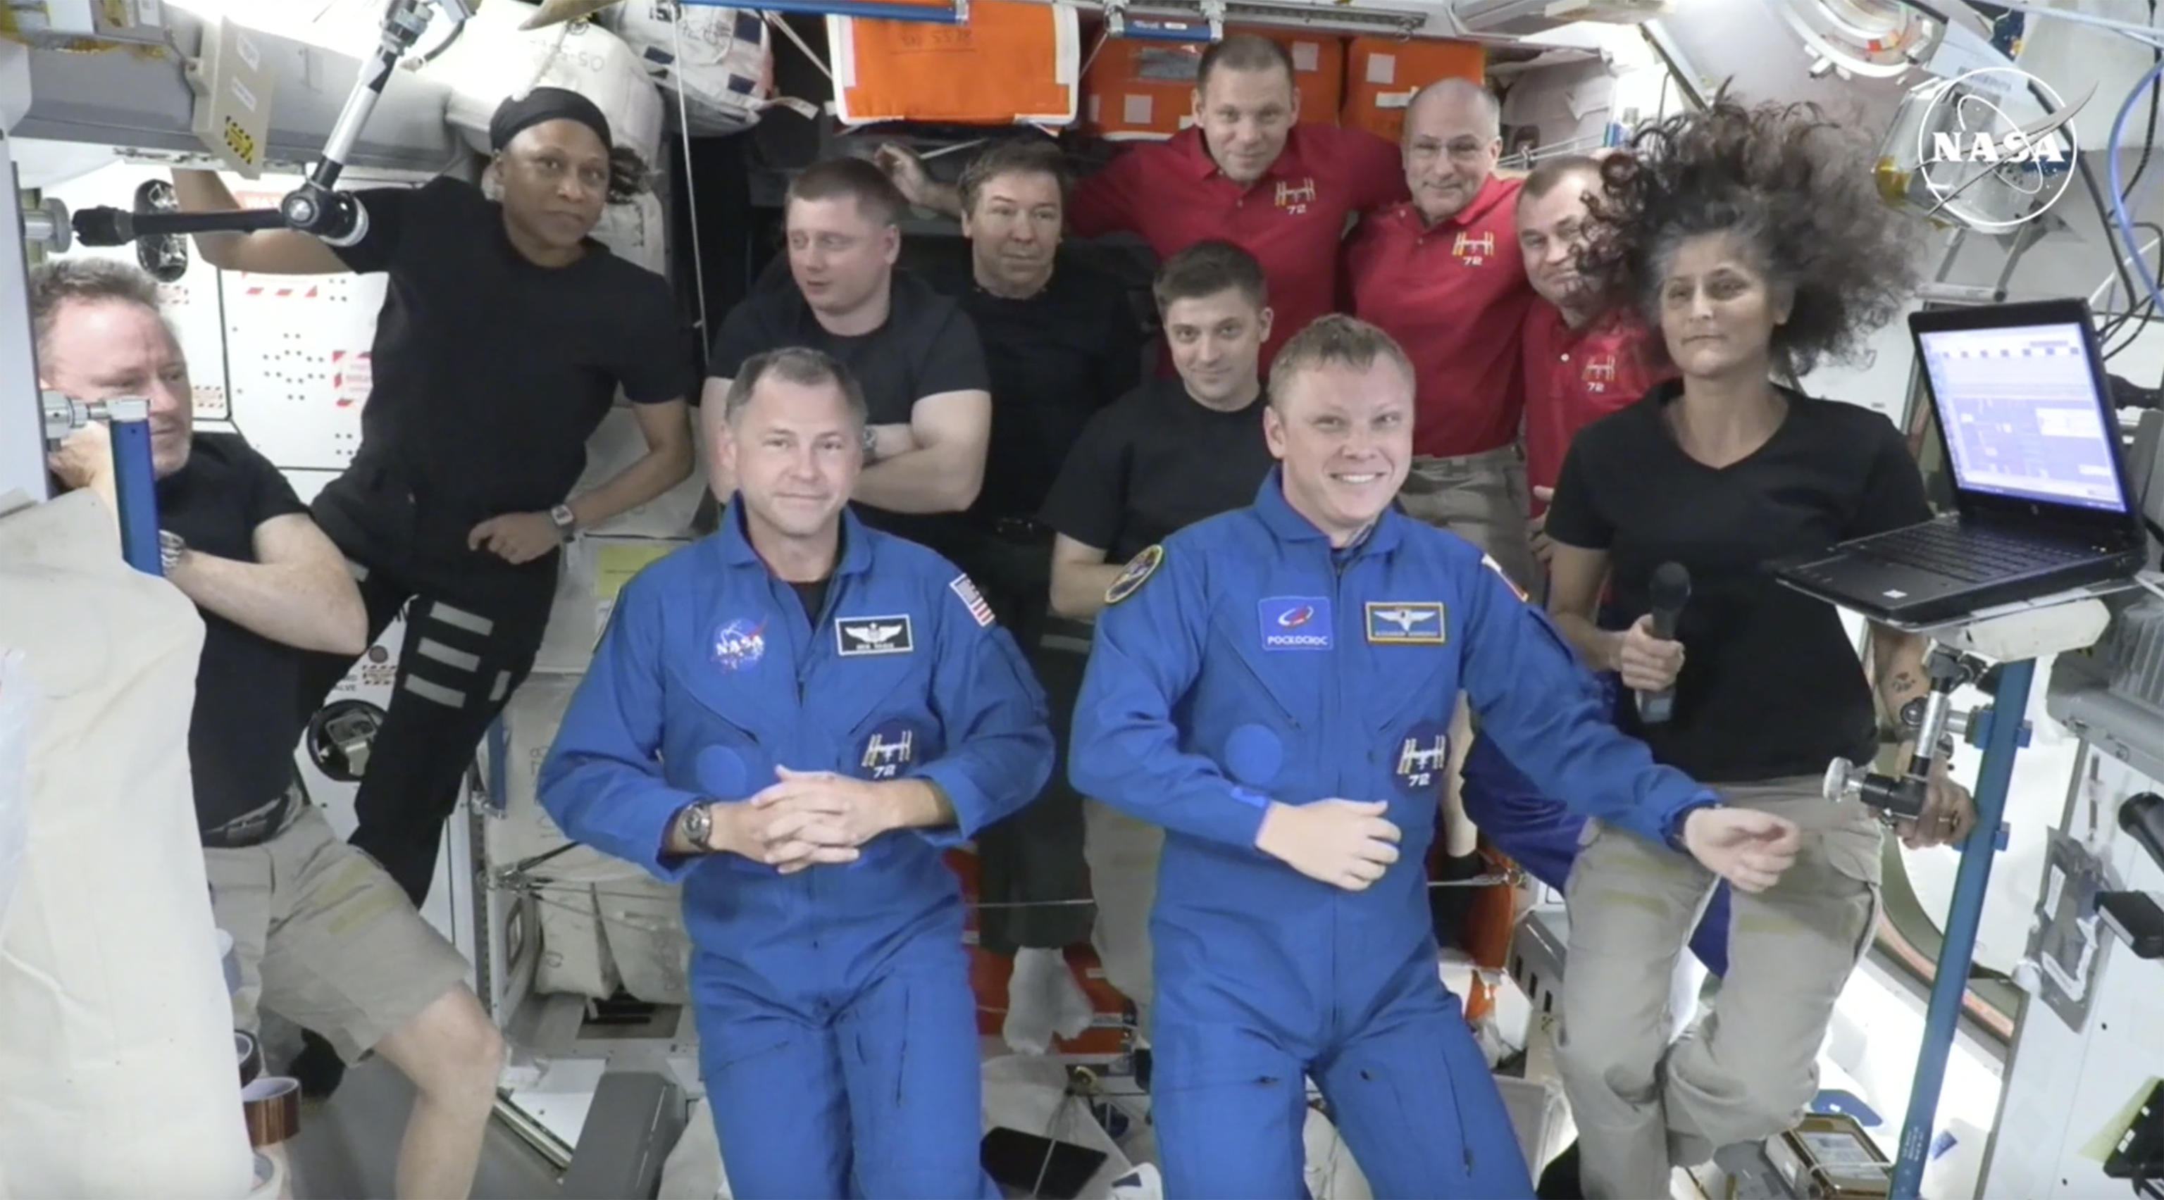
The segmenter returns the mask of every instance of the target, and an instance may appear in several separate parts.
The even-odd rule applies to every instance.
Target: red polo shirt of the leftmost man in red
[[[1398,147],[1363,130],[1294,125],[1277,162],[1253,184],[1233,184],[1210,158],[1203,132],[1127,149],[1076,188],[1067,208],[1078,238],[1140,234],[1158,259],[1212,238],[1255,255],[1270,281],[1277,348],[1337,307],[1337,246],[1346,218],[1402,201]]]

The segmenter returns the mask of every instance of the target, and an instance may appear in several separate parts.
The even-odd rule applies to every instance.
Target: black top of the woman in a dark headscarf
[[[535,266],[502,205],[461,179],[357,197],[368,236],[338,257],[387,272],[390,294],[355,471],[398,469],[459,545],[489,517],[563,504],[617,387],[634,404],[695,391],[660,275],[599,242],[571,266]]]

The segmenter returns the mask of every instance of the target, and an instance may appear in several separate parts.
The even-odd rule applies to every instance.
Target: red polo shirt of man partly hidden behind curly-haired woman
[[[1658,337],[1634,314],[1571,329],[1556,305],[1532,303],[1526,314],[1526,480],[1532,486],[1556,486],[1578,430],[1675,376]],[[1534,517],[1545,508],[1532,502]]]

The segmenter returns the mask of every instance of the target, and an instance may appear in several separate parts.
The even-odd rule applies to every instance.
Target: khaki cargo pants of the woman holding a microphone
[[[1571,936],[1556,1059],[1588,1200],[1668,1196],[1671,1168],[1790,1129],[1818,1094],[1818,1051],[1878,921],[1878,817],[1829,804],[1818,776],[1720,787],[1805,828],[1764,893],[1733,893],[1729,973],[1668,1044],[1668,979],[1714,889],[1686,854],[1586,822],[1565,893]]]

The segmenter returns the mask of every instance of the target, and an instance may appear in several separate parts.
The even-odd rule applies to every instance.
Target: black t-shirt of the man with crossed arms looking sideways
[[[961,305],[907,270],[894,272],[887,322],[872,333],[840,337],[812,314],[794,281],[755,288],[729,309],[708,355],[712,378],[736,378],[744,359],[807,346],[833,355],[857,376],[874,426],[907,426],[918,400],[944,391],[991,391],[985,350]],[[954,515],[887,512],[859,504],[863,523],[915,541],[944,541],[956,528]]]

